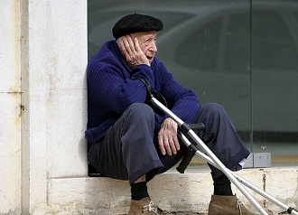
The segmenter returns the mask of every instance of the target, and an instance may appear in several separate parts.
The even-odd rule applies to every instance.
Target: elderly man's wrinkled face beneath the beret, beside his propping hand
[[[156,38],[157,32],[132,33],[132,37],[136,37],[141,50],[151,64],[154,61],[155,53],[157,52]]]

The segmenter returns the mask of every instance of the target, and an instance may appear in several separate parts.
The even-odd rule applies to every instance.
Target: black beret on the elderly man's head
[[[129,34],[152,31],[162,31],[163,22],[160,19],[144,14],[127,14],[122,17],[113,27],[113,36],[115,39]]]

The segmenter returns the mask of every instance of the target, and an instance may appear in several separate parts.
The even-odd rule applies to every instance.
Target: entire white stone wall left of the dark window
[[[51,178],[87,175],[87,1],[0,6],[0,213],[25,214]]]

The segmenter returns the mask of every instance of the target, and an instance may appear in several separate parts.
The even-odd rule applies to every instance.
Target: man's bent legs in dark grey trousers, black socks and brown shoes
[[[198,121],[206,125],[198,134],[214,154],[230,169],[249,154],[230,123],[226,111],[217,104],[200,109]],[[154,213],[154,205],[147,191],[146,182],[157,173],[164,173],[177,164],[186,154],[181,143],[176,154],[163,155],[154,144],[154,111],[145,104],[135,103],[126,109],[105,138],[91,146],[89,162],[98,172],[116,179],[128,179],[131,185],[131,207],[128,214],[141,211]],[[233,195],[228,177],[211,167],[214,193],[211,197],[209,214],[251,214]],[[239,168],[239,167],[238,167]],[[149,207],[150,206],[150,207]],[[226,210],[226,213],[223,213]]]

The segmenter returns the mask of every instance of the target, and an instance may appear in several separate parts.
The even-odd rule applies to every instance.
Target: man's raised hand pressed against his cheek
[[[128,34],[120,37],[116,42],[121,53],[125,57],[126,62],[131,68],[135,68],[141,64],[150,66],[150,63],[144,55],[136,37],[132,38],[132,36]]]

